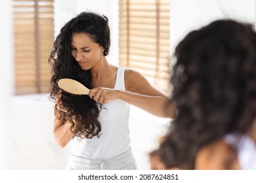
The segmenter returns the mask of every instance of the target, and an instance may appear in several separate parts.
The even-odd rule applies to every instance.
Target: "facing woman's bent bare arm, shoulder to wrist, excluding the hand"
[[[125,88],[119,98],[131,105],[162,118],[175,118],[177,109],[169,98],[156,90],[144,76],[137,71],[125,70]]]

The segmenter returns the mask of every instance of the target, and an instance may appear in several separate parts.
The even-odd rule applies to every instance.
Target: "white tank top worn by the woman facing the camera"
[[[125,90],[125,69],[118,67],[114,90]],[[100,138],[81,139],[74,137],[71,153],[89,159],[113,158],[130,148],[129,112],[130,105],[125,101],[114,100],[104,105],[98,121],[101,125]]]

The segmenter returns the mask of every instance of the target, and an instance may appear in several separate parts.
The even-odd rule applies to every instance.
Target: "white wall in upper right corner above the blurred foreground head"
[[[170,0],[171,1],[171,55],[181,39],[193,29],[213,20],[255,22],[255,0]]]

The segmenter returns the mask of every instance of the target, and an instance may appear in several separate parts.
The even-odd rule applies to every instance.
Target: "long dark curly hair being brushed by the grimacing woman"
[[[72,57],[72,35],[74,33],[85,33],[96,43],[104,48],[104,56],[108,55],[110,49],[110,28],[108,18],[95,12],[81,12],[72,18],[60,29],[59,35],[53,43],[53,50],[49,56],[49,63],[52,65],[52,77],[50,98],[55,101],[58,88],[58,80],[61,78],[72,78],[81,82],[87,88],[92,88],[91,71],[83,71],[77,61]],[[101,126],[98,122],[98,115],[102,110],[102,105],[98,108],[95,101],[87,95],[75,96],[62,92],[62,103],[68,108],[68,112],[60,111],[60,120],[72,123],[71,130],[74,129],[74,121],[77,127],[74,135],[81,138],[99,137]],[[55,114],[57,107],[54,107]],[[73,131],[73,130],[72,130]]]

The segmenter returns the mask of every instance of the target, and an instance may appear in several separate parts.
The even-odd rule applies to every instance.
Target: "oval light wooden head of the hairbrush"
[[[58,80],[58,86],[65,92],[74,95],[88,95],[90,90],[83,84],[70,78],[62,78]]]

